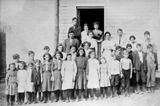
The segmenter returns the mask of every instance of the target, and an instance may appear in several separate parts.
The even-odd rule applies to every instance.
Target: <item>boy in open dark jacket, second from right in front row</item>
[[[145,53],[142,51],[142,45],[137,44],[137,50],[133,53],[133,69],[136,71],[136,93],[139,93],[140,79],[142,80],[142,93],[145,92],[146,83],[146,64],[145,64]]]

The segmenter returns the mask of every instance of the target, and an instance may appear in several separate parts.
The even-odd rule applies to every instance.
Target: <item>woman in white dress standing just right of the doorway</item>
[[[115,43],[111,40],[111,33],[106,32],[104,34],[104,41],[102,42],[101,54],[109,62],[111,60],[111,52],[115,50]]]

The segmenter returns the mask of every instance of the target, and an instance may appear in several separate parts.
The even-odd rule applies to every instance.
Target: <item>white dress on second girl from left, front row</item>
[[[26,70],[18,70],[17,81],[18,81],[18,92],[24,93],[26,91],[26,85],[27,85],[27,71]]]

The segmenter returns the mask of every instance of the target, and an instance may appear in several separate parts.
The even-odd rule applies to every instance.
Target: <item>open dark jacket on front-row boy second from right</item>
[[[146,71],[146,53],[142,52],[142,55],[143,55],[143,64],[142,64],[142,69],[144,71]],[[140,62],[140,57],[139,57],[139,54],[138,54],[138,51],[134,51],[133,52],[133,67],[140,71],[141,70],[141,62]]]

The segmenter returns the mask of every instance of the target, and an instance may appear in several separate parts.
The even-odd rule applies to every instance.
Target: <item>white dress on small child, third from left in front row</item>
[[[31,82],[31,75],[32,75],[32,70],[28,69],[27,70],[27,91],[28,92],[33,92],[33,82]]]

